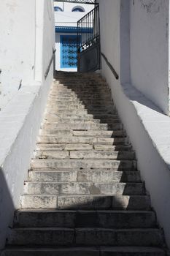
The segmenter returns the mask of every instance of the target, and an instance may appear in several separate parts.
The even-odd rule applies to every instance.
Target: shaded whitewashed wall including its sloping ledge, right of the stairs
[[[161,112],[167,111],[168,104],[168,62],[165,53],[168,55],[169,46],[158,36],[163,39],[169,37],[169,34],[165,37],[168,20],[163,18],[163,10],[165,17],[169,12],[169,8],[166,9],[168,2],[99,0],[101,51],[120,75],[120,79],[115,80],[103,58],[101,74],[109,83],[118,113],[136,151],[138,168],[150,193],[152,206],[170,246],[170,118]],[[146,7],[143,7],[144,3]],[[154,7],[154,10],[156,6],[157,12],[147,12],[144,9],[147,6]],[[143,45],[147,52],[144,52]],[[159,59],[163,66],[160,70]],[[144,76],[146,67],[150,72],[147,77]],[[155,75],[162,88],[158,87]]]

